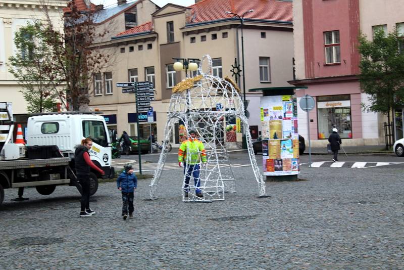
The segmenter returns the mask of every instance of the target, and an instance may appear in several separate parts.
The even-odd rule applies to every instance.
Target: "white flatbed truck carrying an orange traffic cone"
[[[90,173],[90,194],[98,189],[98,178],[115,177],[112,166],[111,139],[100,112],[69,111],[34,113],[28,118],[26,145],[14,144],[12,104],[0,102],[0,204],[4,190],[19,188],[24,200],[25,187],[35,187],[38,193],[49,195],[58,185],[77,185],[74,164],[75,146],[90,137],[91,160],[105,171]]]

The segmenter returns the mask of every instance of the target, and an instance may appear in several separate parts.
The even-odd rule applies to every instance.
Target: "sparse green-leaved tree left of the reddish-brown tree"
[[[23,86],[28,112],[48,112],[56,107],[62,74],[54,69],[52,49],[45,42],[46,26],[35,21],[16,32],[15,56],[9,58],[9,71]]]

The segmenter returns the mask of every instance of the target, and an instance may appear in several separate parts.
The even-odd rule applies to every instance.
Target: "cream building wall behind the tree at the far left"
[[[48,6],[49,17],[53,24],[63,29],[62,8],[67,6],[67,0],[51,0],[48,1]],[[15,32],[27,25],[27,22],[34,20],[46,20],[39,1],[21,0],[16,3],[8,0],[0,3],[0,101],[13,102],[15,114],[27,113],[27,103],[20,93],[23,88],[8,72],[8,58],[16,51]]]

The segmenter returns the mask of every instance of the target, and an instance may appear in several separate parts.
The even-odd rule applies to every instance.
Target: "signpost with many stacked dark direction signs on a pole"
[[[136,102],[136,125],[137,125],[137,152],[139,154],[139,172],[142,174],[142,160],[140,151],[140,126],[139,112],[151,111],[150,101],[155,100],[155,92],[153,82],[138,81],[138,82],[117,82],[117,87],[122,87],[122,93],[135,93]]]

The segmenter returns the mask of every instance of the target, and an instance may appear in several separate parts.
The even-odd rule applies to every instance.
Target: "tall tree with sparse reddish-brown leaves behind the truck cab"
[[[71,1],[68,8],[69,12],[64,14],[64,32],[53,26],[47,9],[43,9],[51,26],[46,42],[53,49],[55,68],[66,78],[68,103],[65,106],[68,110],[79,110],[89,103],[89,86],[93,84],[94,75],[111,65],[108,50],[97,46],[111,25],[95,26],[97,13],[91,5],[82,11]]]

